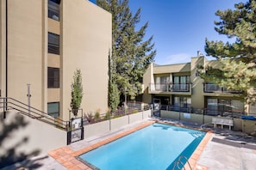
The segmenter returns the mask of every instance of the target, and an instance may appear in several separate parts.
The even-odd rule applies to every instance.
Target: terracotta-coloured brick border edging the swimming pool
[[[48,152],[48,155],[52,156],[53,159],[55,159],[62,166],[66,167],[68,169],[85,169],[85,170],[94,169],[93,167],[91,167],[91,165],[84,164],[84,161],[81,161],[80,159],[78,159],[78,156],[82,155],[86,152],[89,152],[92,149],[97,149],[98,147],[103,146],[107,143],[111,143],[112,141],[115,141],[118,138],[127,136],[128,134],[131,134],[134,131],[138,131],[138,130],[140,130],[142,128],[145,128],[148,125],[156,123],[156,122],[162,123],[162,124],[172,124],[172,123],[165,123],[165,122],[162,122],[162,121],[142,122],[140,125],[132,128],[128,131],[123,131],[120,134],[116,134],[113,137],[109,137],[107,139],[104,139],[103,141],[100,141],[98,143],[94,143],[91,146],[84,147],[83,149],[79,149],[77,151],[74,151],[74,150],[68,148],[68,146],[65,146],[65,147],[55,149],[53,151]],[[193,128],[193,127],[185,126],[185,125],[178,125],[178,124],[172,124],[172,125],[181,126],[181,127],[190,128],[190,129],[195,129],[197,131],[203,131],[202,129]],[[212,137],[212,132],[211,131],[206,131],[206,132],[207,133],[203,137],[203,140],[201,141],[201,143],[199,143],[199,145],[197,146],[197,149],[195,149],[193,154],[190,156],[189,161],[185,164],[185,166],[184,166],[185,169],[189,169],[190,167],[192,169],[203,169],[203,170],[208,169],[208,167],[204,167],[203,165],[197,164],[197,161],[198,161],[200,155],[203,153],[203,149],[205,148],[205,146],[209,142],[209,139]]]

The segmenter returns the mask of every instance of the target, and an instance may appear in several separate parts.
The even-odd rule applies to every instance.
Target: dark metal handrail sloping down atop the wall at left
[[[0,101],[0,108],[3,108],[3,110],[5,111],[13,109],[30,118],[35,118],[37,120],[40,120],[41,122],[54,125],[61,130],[68,131],[69,129],[69,121],[64,121],[60,118],[54,118],[47,114],[47,112],[42,112],[41,110],[36,109],[33,106],[28,106],[27,104],[22,103],[19,100],[10,97],[0,97]]]

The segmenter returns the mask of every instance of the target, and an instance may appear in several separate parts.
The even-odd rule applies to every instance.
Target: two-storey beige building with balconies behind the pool
[[[198,55],[185,64],[151,64],[143,76],[143,101],[160,103],[161,109],[177,112],[234,117],[255,114],[255,106],[240,100],[240,91],[204,82],[197,75],[197,65],[217,67],[218,62]]]

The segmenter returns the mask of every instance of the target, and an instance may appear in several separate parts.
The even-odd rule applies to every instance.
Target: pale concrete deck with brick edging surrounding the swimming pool
[[[97,148],[99,145],[109,143],[118,137],[127,135],[133,131],[152,124],[152,120],[128,124],[118,131],[111,131],[97,137],[86,138],[83,141],[72,143],[66,147],[53,150],[48,155],[34,157],[28,161],[16,163],[15,165],[4,167],[9,169],[91,169],[82,162],[75,159],[75,156],[87,150]],[[177,124],[200,128],[200,124],[163,120],[166,123]],[[256,170],[256,139],[244,133],[229,131],[228,129],[209,129],[203,141],[190,157],[192,169],[225,169],[225,170]],[[186,169],[190,169],[186,165]]]

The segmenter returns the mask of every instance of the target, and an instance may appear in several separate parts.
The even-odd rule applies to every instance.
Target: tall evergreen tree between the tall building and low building
[[[148,23],[136,30],[136,24],[140,22],[140,9],[133,15],[128,0],[97,0],[97,5],[112,14],[111,87],[119,90],[116,94],[126,94],[134,99],[141,94],[143,74],[156,54],[153,37],[144,41]],[[116,98],[116,94],[109,96]]]

